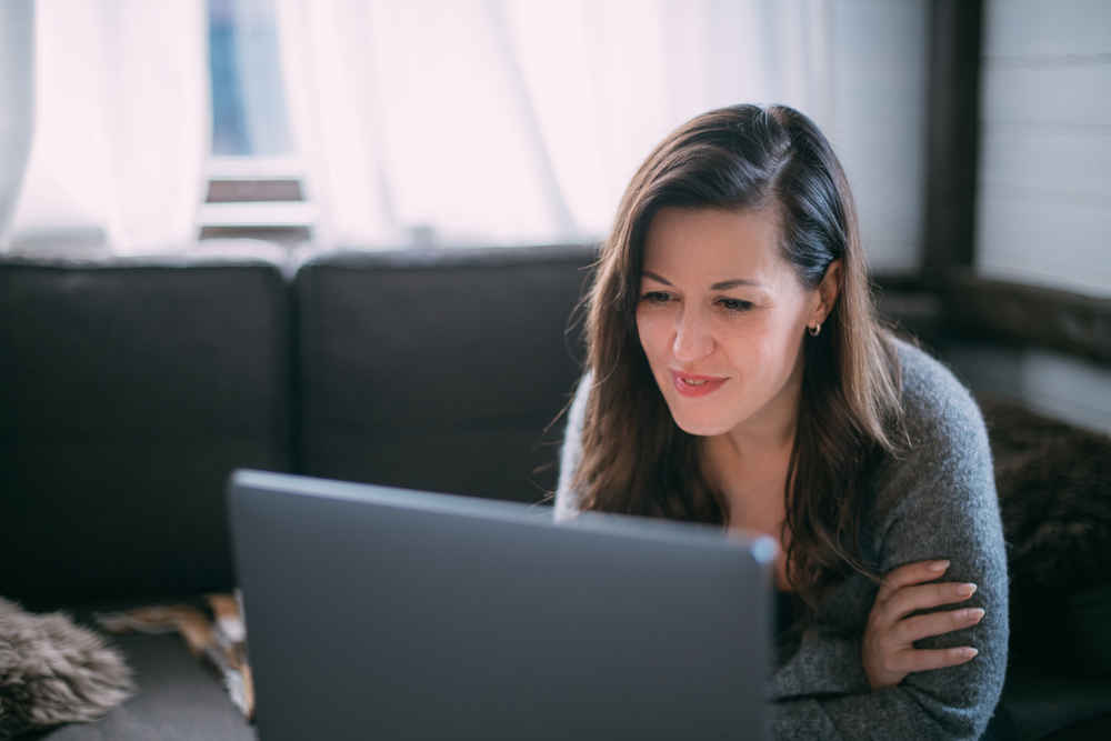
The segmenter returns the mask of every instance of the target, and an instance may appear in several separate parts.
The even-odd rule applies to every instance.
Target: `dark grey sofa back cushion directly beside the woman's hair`
[[[341,252],[297,276],[300,470],[537,501],[590,247]]]

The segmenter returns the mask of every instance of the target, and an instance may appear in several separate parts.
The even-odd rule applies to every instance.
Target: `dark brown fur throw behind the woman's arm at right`
[[[981,409],[1008,547],[1011,659],[1107,675],[1111,438],[1012,402]]]

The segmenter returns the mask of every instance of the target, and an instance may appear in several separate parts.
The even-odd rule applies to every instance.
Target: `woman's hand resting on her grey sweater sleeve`
[[[963,602],[972,597],[975,584],[923,583],[938,579],[948,568],[949,561],[917,561],[893,569],[883,579],[868,615],[861,650],[864,673],[873,690],[898,684],[911,672],[962,664],[977,654],[970,645],[938,650],[914,648],[914,641],[968,628],[983,619],[980,608],[907,617],[915,610]]]

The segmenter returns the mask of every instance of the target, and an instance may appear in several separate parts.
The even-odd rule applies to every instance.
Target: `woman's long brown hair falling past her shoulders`
[[[777,209],[783,258],[807,289],[840,260],[838,298],[803,343],[799,419],[784,528],[787,574],[811,609],[855,569],[863,474],[905,440],[901,373],[875,317],[848,180],[810,119],[782,106],[703,113],[669,136],[629,183],[585,300],[593,385],[572,488],[585,510],[724,523],[729,503],[701,469],[699,438],[679,429],[637,333],[644,237],[663,207]]]

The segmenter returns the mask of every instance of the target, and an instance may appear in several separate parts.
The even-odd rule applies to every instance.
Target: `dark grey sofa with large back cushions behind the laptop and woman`
[[[581,246],[3,259],[0,595],[88,623],[231,589],[223,487],[239,467],[541,501],[592,259]],[[138,694],[38,738],[254,737],[177,637],[111,640]],[[1107,731],[1111,675],[1042,661],[1015,663],[997,738]]]

